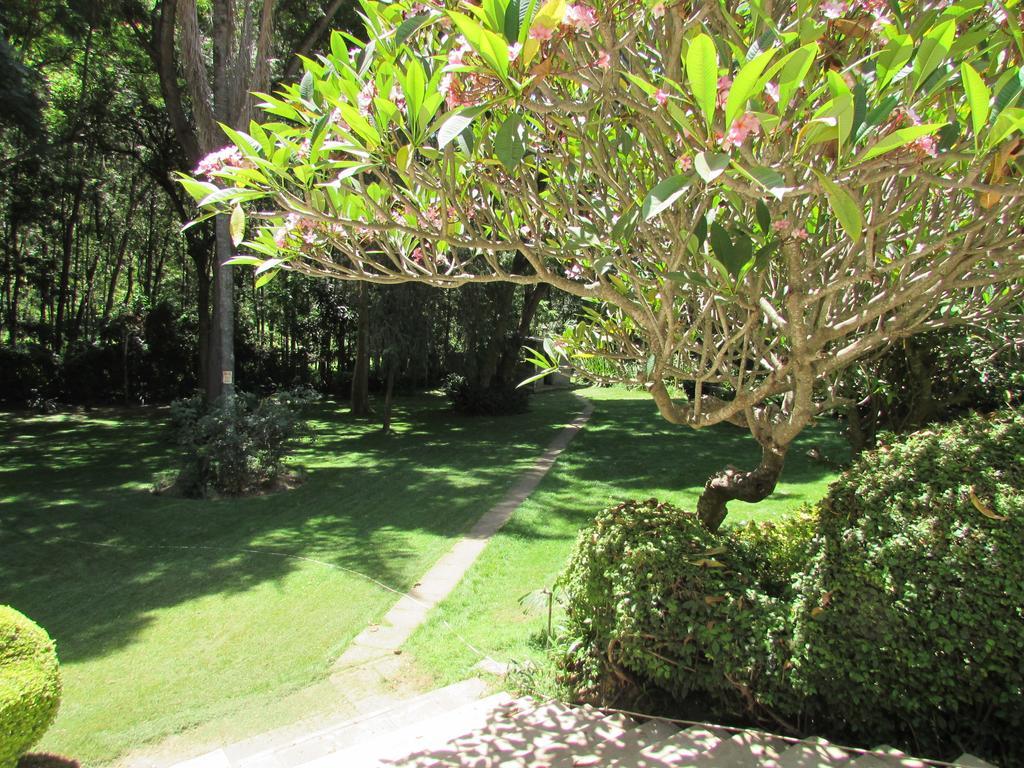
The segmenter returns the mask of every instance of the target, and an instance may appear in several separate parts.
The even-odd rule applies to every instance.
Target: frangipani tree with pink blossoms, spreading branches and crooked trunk
[[[336,34],[182,183],[259,281],[589,299],[553,355],[760,443],[708,481],[715,529],[846,367],[1020,301],[1016,5],[368,1],[366,42]]]

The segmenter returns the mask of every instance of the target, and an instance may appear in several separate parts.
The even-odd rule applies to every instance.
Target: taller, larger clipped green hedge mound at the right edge
[[[862,455],[823,501],[786,685],[808,721],[1024,759],[1024,415]]]

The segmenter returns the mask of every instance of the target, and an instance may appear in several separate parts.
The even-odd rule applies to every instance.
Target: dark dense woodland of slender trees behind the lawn
[[[273,3],[267,90],[294,79],[297,53],[315,51],[331,29],[355,28],[353,5]],[[215,232],[209,222],[182,231],[195,209],[172,179],[202,153],[186,145],[198,133],[194,71],[180,55],[189,7],[12,0],[0,8],[6,404],[166,402],[203,388]],[[203,2],[195,9],[207,65],[212,11]],[[177,116],[161,78],[168,66],[180,88]],[[477,388],[504,388],[531,327],[550,327],[574,306],[513,286],[438,292],[296,275],[256,289],[251,270],[231,271],[236,381],[253,391],[306,385],[348,397],[355,378],[358,397],[389,372],[399,387],[436,386],[455,373]]]

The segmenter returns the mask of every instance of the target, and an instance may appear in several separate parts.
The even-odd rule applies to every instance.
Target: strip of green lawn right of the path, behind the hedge
[[[580,527],[597,510],[650,497],[692,509],[711,474],[728,464],[750,468],[760,459],[745,430],[673,426],[645,393],[590,389],[583,394],[596,406],[587,429],[410,638],[407,650],[436,684],[474,674],[479,655],[467,642],[499,660],[528,659],[544,668],[546,615],[525,613],[518,599],[554,583]],[[834,423],[806,431],[791,449],[775,494],[757,505],[734,503],[726,524],[784,514],[824,496],[835,474],[807,458],[812,446],[835,461],[848,457]]]

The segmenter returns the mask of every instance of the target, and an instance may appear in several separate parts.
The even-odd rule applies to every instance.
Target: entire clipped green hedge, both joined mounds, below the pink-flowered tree
[[[778,524],[601,512],[563,577],[571,688],[1019,763],[1024,413],[889,439]]]

